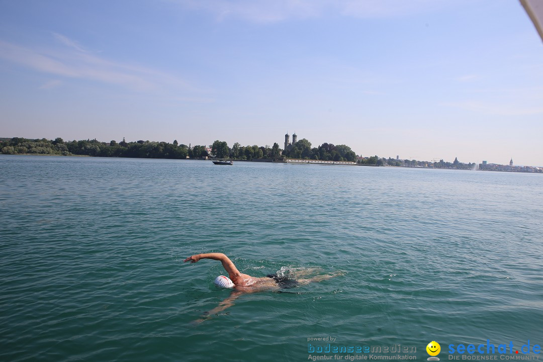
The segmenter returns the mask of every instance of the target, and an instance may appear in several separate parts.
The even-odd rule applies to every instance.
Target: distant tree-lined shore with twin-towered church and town
[[[286,135],[288,136],[288,135]],[[288,140],[288,137],[286,138]],[[332,164],[358,166],[394,166],[407,168],[435,168],[435,169],[468,169],[491,170],[502,172],[543,173],[543,167],[513,166],[513,160],[509,164],[495,164],[486,161],[483,163],[464,163],[454,158],[454,162],[439,160],[418,161],[401,160],[399,156],[378,157],[358,156],[347,145],[333,145],[323,143],[318,148],[311,148],[307,139],[296,142],[287,151],[281,150],[277,143],[270,148],[268,145],[242,147],[235,143],[232,148],[226,142],[215,141],[211,147],[179,144],[176,140],[168,142],[99,142],[96,139],[82,139],[79,141],[64,141],[57,137],[54,140],[28,139],[22,137],[0,137],[0,153],[4,155],[55,155],[55,156],[90,156],[90,157],[126,157],[126,158],[151,158],[166,160],[206,160],[208,158],[231,158],[233,161],[243,162],[277,162],[299,164]],[[286,153],[286,154],[285,154]]]

